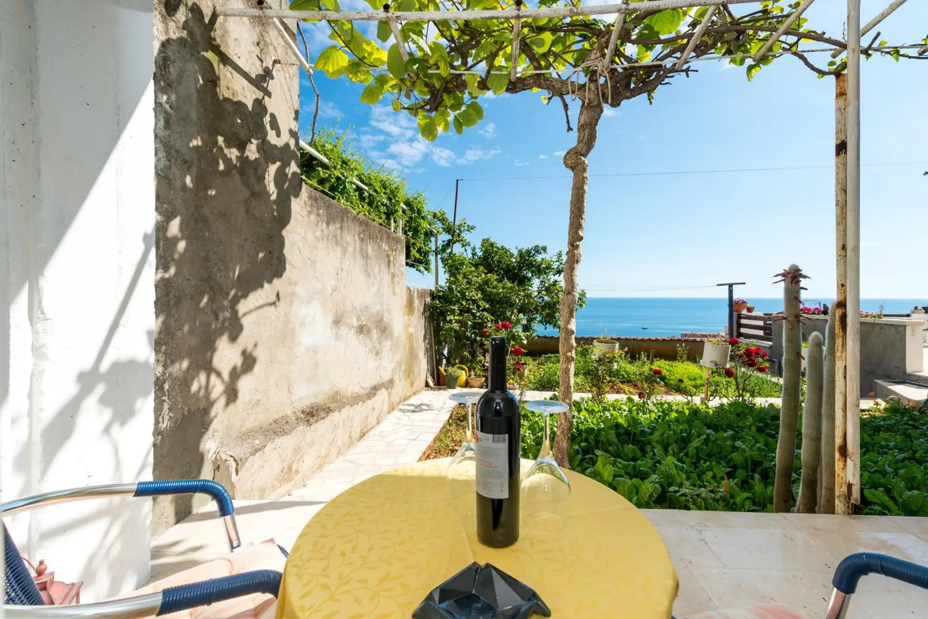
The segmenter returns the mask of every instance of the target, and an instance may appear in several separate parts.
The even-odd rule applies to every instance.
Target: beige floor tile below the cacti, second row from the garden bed
[[[726,568],[831,573],[838,560],[802,531],[702,529],[702,539]]]

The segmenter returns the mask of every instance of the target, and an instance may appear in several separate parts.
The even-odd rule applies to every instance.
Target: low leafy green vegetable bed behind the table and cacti
[[[779,406],[616,400],[574,403],[571,467],[639,508],[770,511]],[[522,452],[535,458],[542,421],[522,413]],[[861,419],[859,513],[928,515],[928,417],[889,406]],[[801,430],[793,495],[798,496]]]

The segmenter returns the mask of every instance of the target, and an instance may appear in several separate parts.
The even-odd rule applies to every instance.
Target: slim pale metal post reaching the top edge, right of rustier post
[[[847,498],[860,503],[860,0],[847,0]]]

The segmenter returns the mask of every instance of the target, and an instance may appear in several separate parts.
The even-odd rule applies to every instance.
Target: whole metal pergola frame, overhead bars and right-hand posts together
[[[641,11],[662,11],[672,8],[693,8],[709,6],[709,12],[702,23],[693,32],[689,44],[675,63],[638,62],[610,65],[616,70],[627,67],[644,67],[664,64],[676,64],[677,71],[693,60],[727,60],[731,58],[753,58],[754,62],[768,56],[789,54],[806,54],[814,52],[831,52],[831,58],[838,58],[843,52],[848,53],[846,69],[846,93],[842,86],[836,90],[835,105],[835,230],[837,261],[837,302],[832,319],[836,323],[835,358],[835,513],[848,514],[852,505],[860,502],[860,38],[870,32],[883,19],[902,6],[906,0],[893,0],[863,29],[860,28],[860,0],[847,0],[847,41],[844,45],[836,43],[831,47],[806,50],[771,51],[773,45],[799,19],[814,0],[803,0],[802,4],[773,32],[765,45],[753,55],[716,56],[690,59],[690,54],[708,27],[709,20],[720,6],[757,3],[761,0],[645,0],[631,4],[624,0],[622,4],[602,6],[559,6],[555,8],[522,8],[522,0],[516,0],[515,10],[462,10],[462,11],[398,11],[393,12],[385,5],[380,11],[329,11],[329,10],[295,10],[274,8],[248,8],[218,6],[215,12],[220,17],[243,17],[273,19],[275,27],[287,39],[291,52],[299,58],[306,71],[312,72],[311,65],[290,39],[280,19],[350,21],[387,21],[393,33],[393,39],[399,47],[404,60],[408,59],[406,45],[398,24],[403,21],[470,21],[477,19],[509,20],[513,22],[512,66],[510,78],[519,74],[530,73],[568,73],[573,75],[588,68],[574,67],[563,70],[528,70],[518,71],[516,67],[519,55],[520,31],[522,19],[570,18],[615,14],[612,34],[607,47],[608,56],[612,58],[615,45],[625,20],[625,14]],[[920,56],[928,54],[928,45],[884,45],[868,46],[864,52],[886,49],[918,49]],[[386,67],[372,67],[369,71],[387,71]],[[437,72],[437,71],[435,71]],[[478,73],[486,71],[459,71],[452,73]],[[843,84],[842,84],[843,85]],[[311,152],[312,149],[308,148]],[[353,179],[354,180],[354,179]],[[437,242],[437,236],[436,236]],[[436,256],[437,267],[437,256]],[[436,270],[437,283],[437,270]]]

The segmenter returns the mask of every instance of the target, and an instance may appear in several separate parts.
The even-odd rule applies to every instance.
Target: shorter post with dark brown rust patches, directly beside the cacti
[[[847,501],[847,75],[834,79],[834,221],[837,295],[834,320],[834,512],[850,513]]]

